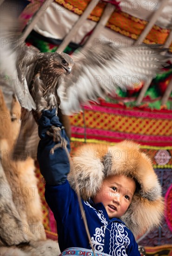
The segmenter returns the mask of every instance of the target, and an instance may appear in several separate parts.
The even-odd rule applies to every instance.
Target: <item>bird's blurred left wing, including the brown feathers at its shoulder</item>
[[[38,50],[27,47],[20,39],[20,22],[10,8],[0,10],[0,74],[11,85],[22,107],[36,109],[28,89],[35,54]]]

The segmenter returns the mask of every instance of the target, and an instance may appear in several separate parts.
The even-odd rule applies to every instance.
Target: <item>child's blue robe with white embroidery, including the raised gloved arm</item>
[[[66,151],[57,148],[54,155],[50,154],[56,142],[46,132],[52,125],[60,128],[62,126],[59,118],[55,116],[55,109],[44,111],[39,120],[41,140],[38,146],[38,161],[40,172],[46,180],[46,202],[57,222],[60,250],[70,247],[91,249],[79,209],[78,197],[66,179],[70,171]],[[67,148],[70,150],[64,130],[61,130],[61,136],[68,141]],[[82,200],[82,203],[96,251],[109,255],[140,256],[134,236],[124,222],[118,218],[109,219],[102,203],[94,204],[91,199],[89,202]]]

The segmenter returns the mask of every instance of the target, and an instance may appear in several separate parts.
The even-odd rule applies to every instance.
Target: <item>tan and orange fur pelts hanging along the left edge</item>
[[[20,114],[17,101],[12,112]],[[0,255],[58,255],[58,243],[46,240],[34,161],[12,159],[20,121],[11,121],[1,91],[0,116]]]

